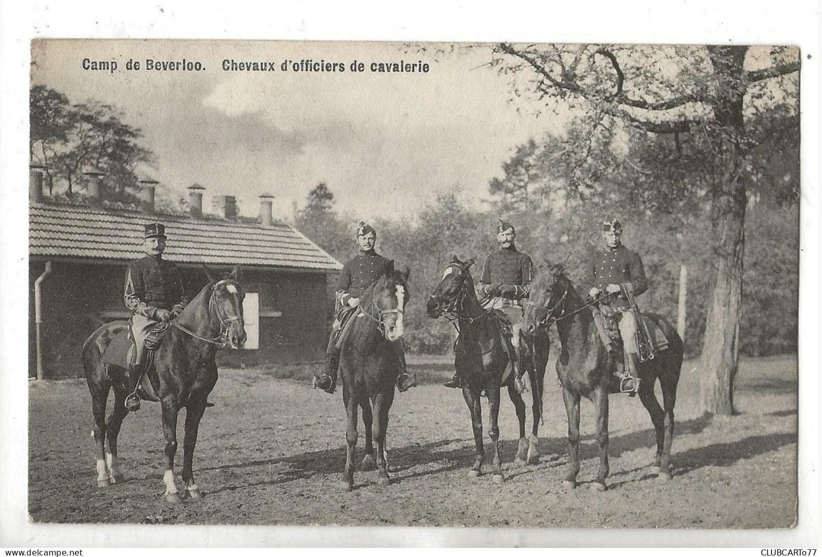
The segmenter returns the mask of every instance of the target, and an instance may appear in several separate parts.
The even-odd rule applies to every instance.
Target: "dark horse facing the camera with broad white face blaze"
[[[393,344],[401,342],[399,339],[403,336],[403,315],[410,297],[409,275],[409,269],[395,270],[393,260],[386,264],[380,279],[360,297],[359,309],[351,316],[353,322],[348,325],[350,329],[340,347],[339,375],[347,417],[347,451],[341,481],[345,491],[353,490],[354,486],[358,408],[363,409],[366,436],[361,468],[371,469],[376,461],[378,484],[390,484],[386,429],[399,377],[399,361]]]

